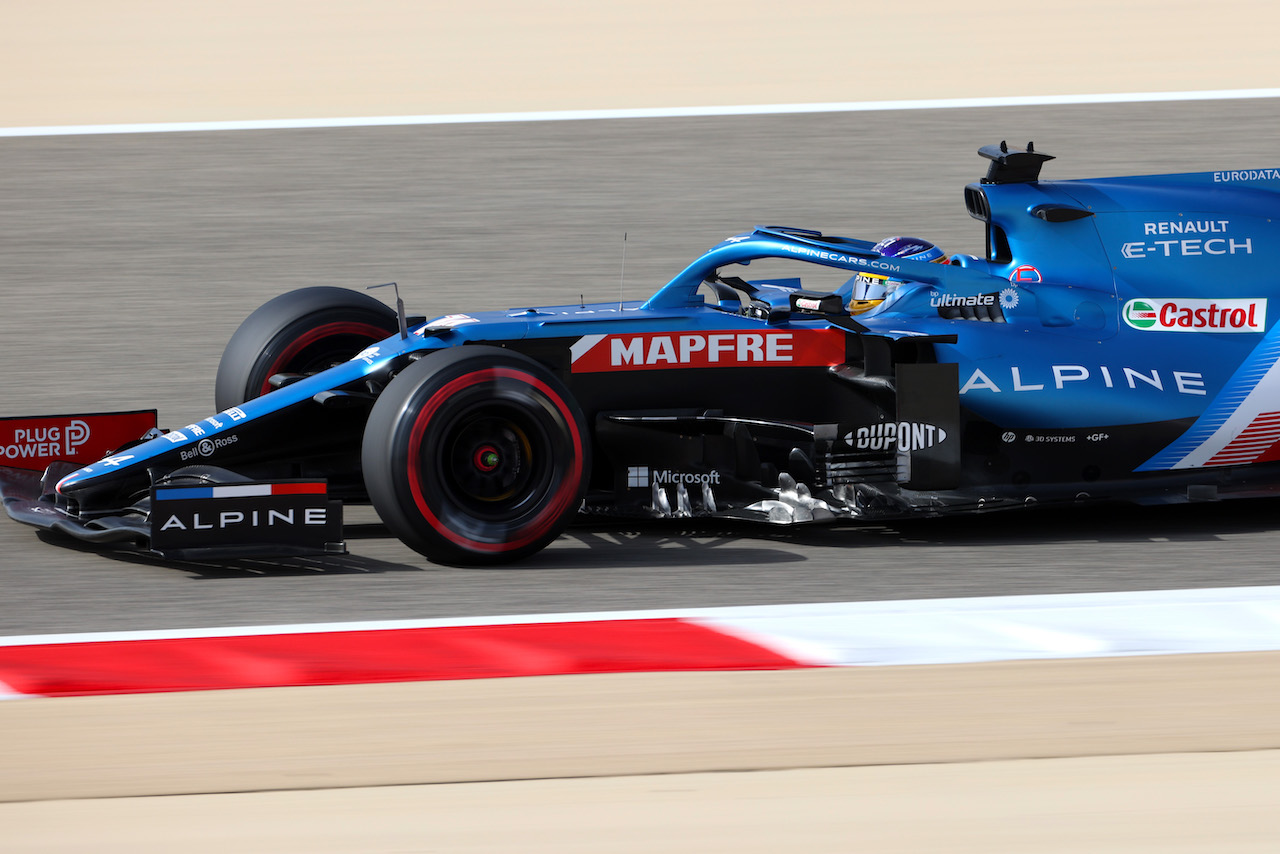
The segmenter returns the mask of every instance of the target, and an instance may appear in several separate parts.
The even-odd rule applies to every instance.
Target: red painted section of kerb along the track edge
[[[677,618],[0,647],[0,682],[42,697],[808,666]]]

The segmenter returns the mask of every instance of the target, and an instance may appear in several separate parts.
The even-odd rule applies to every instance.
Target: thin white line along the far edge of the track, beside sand
[[[1028,95],[956,97],[910,101],[835,101],[824,104],[759,104],[678,106],[626,110],[547,110],[527,113],[454,113],[444,115],[378,115],[319,119],[259,119],[246,122],[157,122],[147,124],[67,124],[0,128],[0,137],[84,136],[96,133],[179,133],[192,131],[294,131],[302,128],[372,128],[411,124],[485,124],[495,122],[581,122],[591,119],[672,119],[792,113],[867,113],[891,110],[947,110],[993,106],[1070,106],[1078,104],[1138,104],[1155,101],[1224,101],[1280,97],[1280,88],[1203,90],[1184,92],[1119,92],[1097,95]]]

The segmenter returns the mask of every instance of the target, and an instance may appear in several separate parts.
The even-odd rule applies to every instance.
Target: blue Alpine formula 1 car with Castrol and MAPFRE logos
[[[759,227],[644,302],[428,321],[398,298],[285,293],[232,337],[202,421],[0,421],[5,506],[180,556],[340,549],[334,504],[371,502],[465,565],[531,554],[580,513],[1275,494],[1280,170],[1044,182],[1032,145],[980,155],[964,198],[984,257]],[[804,273],[745,277],[778,262]],[[146,437],[116,447],[116,428]]]

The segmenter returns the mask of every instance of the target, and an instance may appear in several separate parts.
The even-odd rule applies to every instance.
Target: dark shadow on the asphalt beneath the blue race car
[[[1280,529],[1280,498],[1138,507],[1036,507],[1019,511],[896,521],[881,525],[764,526],[732,520],[585,520],[550,548],[516,563],[463,571],[590,570],[696,563],[783,565],[810,560],[806,549],[954,548],[1215,542]],[[198,579],[370,575],[458,571],[408,552],[380,522],[343,529],[351,553],[310,557],[166,560],[141,549],[104,549],[41,531],[42,540],[115,561],[189,572]]]

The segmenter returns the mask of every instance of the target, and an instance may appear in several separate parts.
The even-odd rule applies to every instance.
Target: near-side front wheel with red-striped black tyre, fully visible
[[[361,449],[378,515],[436,563],[516,561],[568,524],[588,483],[582,414],[543,365],[465,346],[413,362],[378,398]]]

